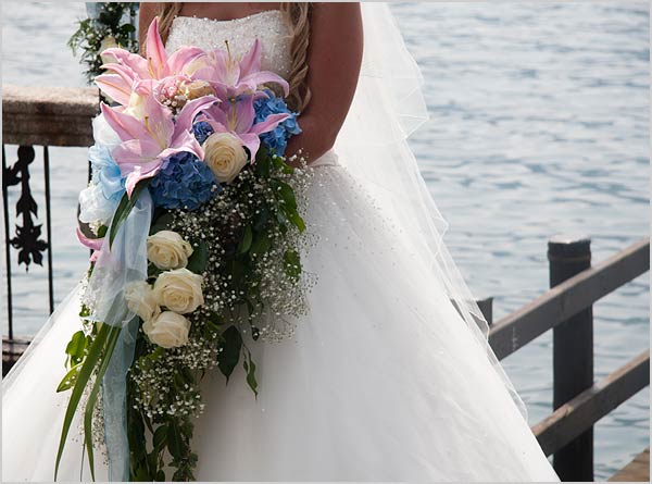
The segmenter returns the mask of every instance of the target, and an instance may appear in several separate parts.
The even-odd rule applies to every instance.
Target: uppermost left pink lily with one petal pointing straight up
[[[159,35],[159,17],[154,17],[147,33],[147,59],[121,48],[106,49],[101,54],[115,62],[102,65],[110,73],[96,77],[96,83],[108,96],[126,106],[136,82],[188,75],[192,62],[203,58],[205,52],[198,47],[184,46],[168,57]]]

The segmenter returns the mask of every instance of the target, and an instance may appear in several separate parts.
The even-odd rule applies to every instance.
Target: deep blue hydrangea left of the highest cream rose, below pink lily
[[[188,210],[199,208],[222,188],[211,169],[185,151],[166,159],[149,187],[155,206]]]

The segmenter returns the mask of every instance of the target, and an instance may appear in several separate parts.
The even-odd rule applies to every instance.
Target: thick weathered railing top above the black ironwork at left
[[[95,88],[2,86],[2,142],[90,146],[99,113]]]

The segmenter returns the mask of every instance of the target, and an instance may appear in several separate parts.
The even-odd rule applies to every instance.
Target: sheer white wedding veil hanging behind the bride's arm
[[[361,7],[364,54],[355,96],[335,147],[340,163],[372,193],[424,266],[431,268],[527,421],[525,404],[489,346],[489,325],[443,243],[448,223],[408,145],[408,137],[429,119],[418,65],[389,7],[376,2],[361,2]]]

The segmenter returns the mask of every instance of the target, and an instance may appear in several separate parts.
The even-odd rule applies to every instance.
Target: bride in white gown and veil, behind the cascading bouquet
[[[154,15],[168,52],[228,40],[241,54],[258,38],[262,69],[289,82],[302,112],[288,152],[301,149],[316,174],[305,219],[317,241],[303,256],[317,277],[310,313],[291,339],[252,346],[258,398],[242,374],[226,386],[204,377],[198,481],[559,481],[408,147],[427,113],[389,9],[142,3],[141,33]],[[3,382],[4,481],[53,477],[66,406],[54,389],[80,326],[78,291]],[[68,439],[59,479],[88,480],[82,439]],[[108,472],[96,462],[98,480]]]

